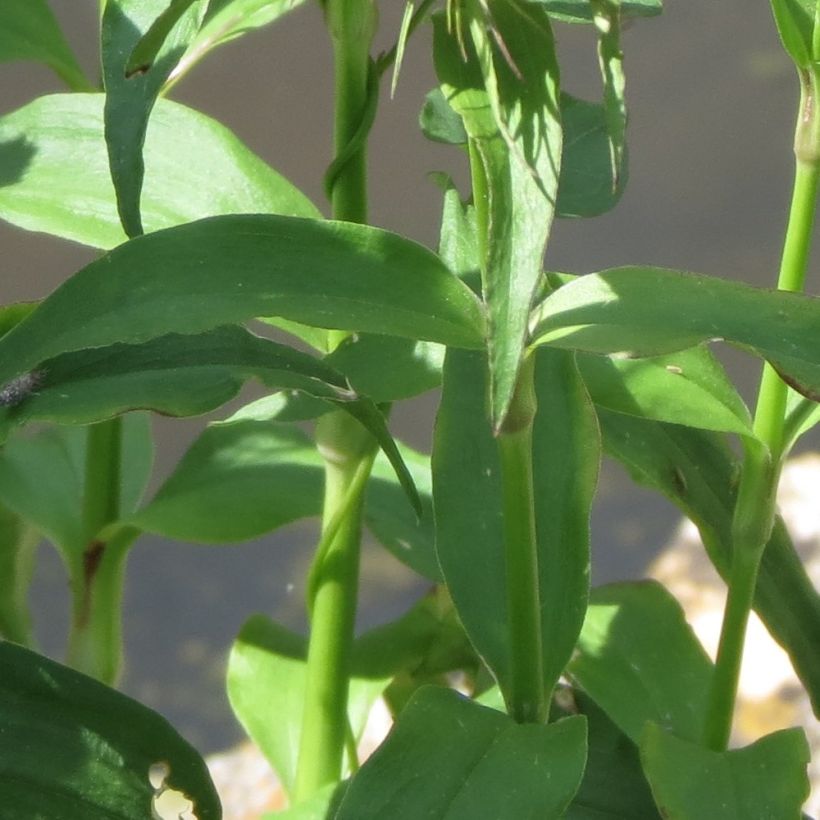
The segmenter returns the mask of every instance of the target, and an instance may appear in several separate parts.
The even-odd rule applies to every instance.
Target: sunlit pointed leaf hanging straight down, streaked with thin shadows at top
[[[469,40],[449,31],[445,17],[434,18],[434,54],[444,97],[470,139],[478,222],[486,231],[480,262],[497,428],[516,383],[555,211],[558,64],[538,6],[502,0],[489,21],[477,7],[470,15]]]

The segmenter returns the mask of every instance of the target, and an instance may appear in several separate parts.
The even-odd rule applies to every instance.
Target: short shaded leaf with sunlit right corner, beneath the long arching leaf
[[[344,373],[350,386],[377,403],[408,399],[441,384],[444,347],[390,336],[348,336],[325,364]]]

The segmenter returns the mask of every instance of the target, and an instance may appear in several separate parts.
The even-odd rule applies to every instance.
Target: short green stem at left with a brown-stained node
[[[122,571],[126,549],[99,539],[101,530],[120,517],[122,420],[88,428],[83,530],[88,539],[71,567],[72,617],[68,663],[112,684],[122,655]],[[135,535],[130,536],[128,544]]]

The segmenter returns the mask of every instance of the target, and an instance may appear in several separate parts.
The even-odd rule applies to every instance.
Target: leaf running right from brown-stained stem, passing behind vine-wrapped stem
[[[408,447],[400,452],[422,497],[422,517],[417,519],[395,471],[379,456],[365,523],[399,560],[435,580],[429,462]],[[323,486],[324,462],[300,430],[249,419],[214,424],[127,523],[185,541],[243,541],[320,515]]]

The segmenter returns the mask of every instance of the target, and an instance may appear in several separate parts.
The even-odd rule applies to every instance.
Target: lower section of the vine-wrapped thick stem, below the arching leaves
[[[342,776],[361,514],[375,456],[372,437],[346,414],[323,416],[316,438],[325,458],[322,529],[331,533],[331,540],[317,551],[309,576],[311,632],[295,803]]]

